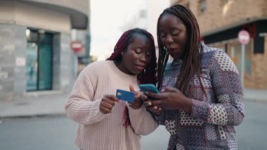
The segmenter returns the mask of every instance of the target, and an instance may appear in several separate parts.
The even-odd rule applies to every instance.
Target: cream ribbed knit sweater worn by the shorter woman
[[[112,113],[99,110],[105,94],[115,95],[117,89],[129,91],[129,85],[139,89],[136,75],[123,73],[113,61],[97,61],[82,70],[65,105],[67,116],[79,123],[75,144],[80,149],[141,149],[141,135],[158,126],[144,106],[135,110],[122,101],[115,104]],[[129,108],[129,127],[122,125],[125,106]]]

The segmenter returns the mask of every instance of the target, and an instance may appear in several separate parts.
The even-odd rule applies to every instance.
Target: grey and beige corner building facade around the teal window
[[[77,77],[77,54],[70,49],[70,12],[86,14],[89,1],[37,2],[64,6],[67,12],[52,11],[25,1],[0,1],[0,101],[19,100],[21,96],[34,94],[26,90],[27,28],[46,30],[54,35],[52,91],[70,92]]]

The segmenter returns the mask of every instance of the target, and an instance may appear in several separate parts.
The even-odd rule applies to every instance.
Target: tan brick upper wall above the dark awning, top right
[[[266,0],[228,0],[226,4],[221,0],[207,0],[207,10],[204,13],[200,12],[199,1],[171,0],[171,4],[188,3],[197,18],[202,35],[242,25],[247,21],[267,18]]]

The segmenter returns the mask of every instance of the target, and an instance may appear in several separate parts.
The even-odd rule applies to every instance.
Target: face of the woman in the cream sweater
[[[131,75],[140,74],[151,61],[152,43],[145,35],[133,35],[133,41],[122,53],[119,69]]]

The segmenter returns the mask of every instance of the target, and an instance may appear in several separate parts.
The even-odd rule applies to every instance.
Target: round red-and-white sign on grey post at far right
[[[244,72],[245,72],[245,45],[249,43],[249,32],[241,30],[238,33],[238,41],[242,44],[241,46],[241,83],[244,89]]]

